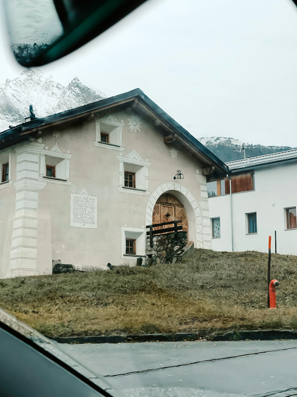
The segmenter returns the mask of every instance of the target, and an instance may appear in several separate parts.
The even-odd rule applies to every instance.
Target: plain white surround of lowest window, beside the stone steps
[[[126,239],[136,240],[136,254],[126,254]],[[122,259],[145,258],[146,229],[138,227],[122,227]]]

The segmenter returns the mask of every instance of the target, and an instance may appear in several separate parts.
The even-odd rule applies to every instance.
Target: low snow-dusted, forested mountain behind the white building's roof
[[[244,158],[244,153],[239,153],[243,142],[238,139],[227,137],[201,137],[198,140],[206,146],[213,154],[219,157],[223,162],[240,160]],[[252,143],[245,142],[246,157],[261,156],[262,154],[270,154],[283,152],[284,150],[296,149],[290,146],[264,146],[253,145]],[[236,150],[234,152],[234,149]]]

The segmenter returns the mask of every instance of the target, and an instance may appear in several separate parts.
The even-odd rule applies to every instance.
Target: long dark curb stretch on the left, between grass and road
[[[111,336],[70,336],[52,337],[58,343],[123,343],[123,342],[180,342],[196,341],[199,339],[196,332],[177,332],[177,333],[152,333],[150,335],[111,335]]]

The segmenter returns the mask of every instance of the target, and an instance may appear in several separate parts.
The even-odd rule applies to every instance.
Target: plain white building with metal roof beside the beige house
[[[207,183],[215,251],[297,254],[297,150],[226,163],[225,179]],[[231,180],[231,195],[230,195]]]

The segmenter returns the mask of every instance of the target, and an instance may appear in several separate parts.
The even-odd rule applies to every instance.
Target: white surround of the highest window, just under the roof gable
[[[122,146],[122,141],[123,141],[123,127],[125,123],[119,123],[118,121],[115,120],[110,120],[107,118],[97,118],[94,117],[95,120],[95,141],[93,141],[93,144],[97,147],[105,148],[105,149],[111,149],[111,150],[118,150],[119,152],[122,152],[125,150],[125,148]],[[107,126],[108,129],[112,129],[108,133],[109,135],[109,143],[107,142],[101,142],[101,129],[102,127]],[[107,132],[104,132],[107,133]],[[113,139],[113,143],[110,142],[111,138]]]

